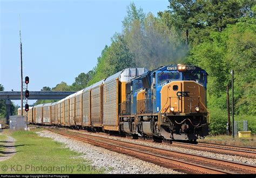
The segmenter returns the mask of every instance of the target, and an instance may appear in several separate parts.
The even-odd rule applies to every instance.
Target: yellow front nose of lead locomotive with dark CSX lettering
[[[161,113],[204,113],[206,90],[196,81],[172,81],[161,88]]]

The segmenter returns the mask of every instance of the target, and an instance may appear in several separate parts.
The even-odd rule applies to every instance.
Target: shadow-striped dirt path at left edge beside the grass
[[[6,135],[8,139],[4,141],[0,141],[0,147],[3,150],[0,150],[0,161],[5,161],[11,158],[11,156],[15,155],[15,139],[9,135]]]

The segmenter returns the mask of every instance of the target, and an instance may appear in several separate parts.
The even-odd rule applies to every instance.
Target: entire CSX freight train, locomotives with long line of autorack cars
[[[28,121],[133,138],[196,141],[208,135],[207,75],[183,64],[125,69],[60,101],[30,107]]]

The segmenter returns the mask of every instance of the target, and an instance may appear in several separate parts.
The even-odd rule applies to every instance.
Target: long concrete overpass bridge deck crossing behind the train
[[[63,91],[29,91],[29,100],[41,99],[63,99],[68,95],[75,93]],[[25,92],[23,92],[25,95]],[[4,100],[21,100],[21,92],[0,92],[0,99]]]

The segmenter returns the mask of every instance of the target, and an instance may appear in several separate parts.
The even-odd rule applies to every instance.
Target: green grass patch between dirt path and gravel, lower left
[[[50,138],[42,138],[35,133],[41,130],[4,132],[16,139],[17,153],[9,160],[0,162],[0,174],[103,173],[104,170],[98,170],[92,167],[90,162],[79,158],[82,154],[64,148],[62,143]],[[1,168],[3,165],[6,165],[8,170],[3,171]]]

